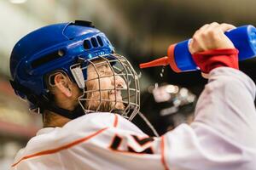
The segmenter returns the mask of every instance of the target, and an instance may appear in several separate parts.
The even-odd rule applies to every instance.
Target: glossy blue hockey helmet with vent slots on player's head
[[[77,82],[79,85],[72,72],[72,65],[76,65],[79,59],[86,61],[96,59],[99,56],[114,58],[113,54],[114,48],[108,37],[102,31],[97,30],[89,21],[77,20],[45,26],[32,31],[15,44],[10,57],[10,73],[13,79],[10,82],[17,95],[22,99],[29,100],[31,109],[49,107],[47,96],[49,90],[45,84],[45,76],[52,71],[64,71],[73,82]],[[116,60],[120,61],[121,59]],[[125,65],[130,65],[130,63]],[[122,70],[125,71],[126,69]],[[136,72],[133,68],[128,69],[128,71],[130,73],[126,73],[126,75],[135,77],[135,86],[138,88]],[[86,81],[86,67],[83,70],[83,77],[83,80]],[[129,80],[127,79],[126,82],[131,83],[129,76],[127,77]],[[83,88],[83,86],[79,86],[79,88]],[[137,89],[133,91],[139,94]],[[131,96],[130,92],[128,94]],[[137,94],[134,94],[137,98],[135,103],[139,107]],[[130,101],[131,99],[127,105],[131,105]],[[55,105],[51,107],[51,110],[67,112],[61,108],[56,108]],[[63,115],[67,116],[68,112]]]

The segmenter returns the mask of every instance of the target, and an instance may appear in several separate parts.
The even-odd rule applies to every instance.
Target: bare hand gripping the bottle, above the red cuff
[[[202,26],[195,31],[189,42],[189,52],[195,54],[209,49],[235,48],[230,39],[224,35],[225,31],[234,28],[236,27],[230,24],[218,24],[217,22]]]

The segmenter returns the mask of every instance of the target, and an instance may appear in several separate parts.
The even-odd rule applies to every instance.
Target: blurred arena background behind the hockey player
[[[177,74],[168,66],[138,65],[165,56],[170,44],[212,21],[256,26],[255,7],[254,0],[0,0],[0,169],[9,169],[17,150],[42,126],[41,116],[30,113],[9,86],[11,50],[28,32],[57,22],[92,21],[141,75],[141,111],[162,134],[193,120],[207,81],[199,71]],[[254,82],[255,64],[256,59],[240,63]],[[141,120],[135,123],[151,134]]]

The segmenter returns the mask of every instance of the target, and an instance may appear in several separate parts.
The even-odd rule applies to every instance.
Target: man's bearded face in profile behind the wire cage
[[[127,88],[125,80],[115,75],[106,60],[100,59],[87,68],[85,108],[91,111],[124,110],[121,88]]]

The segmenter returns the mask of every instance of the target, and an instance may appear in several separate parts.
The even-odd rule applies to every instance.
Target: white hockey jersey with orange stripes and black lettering
[[[214,69],[195,121],[160,138],[111,113],[91,113],[38,131],[12,169],[255,170],[255,85],[241,71]]]

